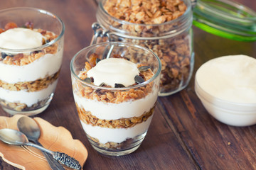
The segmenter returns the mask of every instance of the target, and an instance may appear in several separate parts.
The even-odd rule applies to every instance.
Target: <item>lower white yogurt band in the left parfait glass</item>
[[[58,79],[56,79],[53,84],[50,84],[46,89],[41,91],[9,91],[3,88],[0,88],[0,98],[11,102],[11,103],[25,103],[28,107],[31,107],[33,104],[38,103],[50,96],[57,86]]]

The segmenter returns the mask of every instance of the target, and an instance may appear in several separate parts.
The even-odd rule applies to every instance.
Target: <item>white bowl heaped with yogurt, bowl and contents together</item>
[[[196,72],[195,90],[210,115],[220,122],[256,124],[256,59],[245,55],[218,57]]]

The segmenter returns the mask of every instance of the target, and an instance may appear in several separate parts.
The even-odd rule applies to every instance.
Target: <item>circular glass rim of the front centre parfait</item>
[[[83,81],[82,79],[80,79],[80,77],[78,77],[77,74],[75,74],[75,70],[73,68],[73,63],[75,62],[75,58],[78,57],[78,55],[80,54],[80,52],[84,51],[84,50],[88,50],[88,49],[92,49],[95,47],[99,47],[99,46],[104,46],[104,45],[129,45],[129,46],[134,46],[134,47],[138,47],[142,50],[146,50],[148,52],[150,52],[155,58],[156,61],[158,62],[158,69],[156,71],[156,73],[154,73],[154,76],[151,77],[150,79],[144,81],[142,84],[137,84],[134,86],[129,86],[129,87],[120,87],[120,88],[114,88],[114,87],[104,87],[104,86],[95,86],[94,84],[89,84],[85,81]],[[151,81],[154,81],[154,79],[156,79],[156,77],[159,76],[160,72],[161,72],[161,61],[159,59],[159,57],[150,49],[146,48],[146,47],[142,47],[140,45],[134,45],[131,42],[100,42],[94,45],[90,45],[87,46],[85,48],[82,48],[82,50],[80,50],[79,52],[77,52],[74,57],[72,58],[71,62],[70,62],[70,71],[71,74],[75,77],[75,79],[77,79],[78,81],[80,81],[81,84],[85,84],[86,86],[90,86],[93,89],[105,89],[105,90],[114,90],[114,91],[124,91],[124,90],[129,90],[129,89],[137,89],[139,87],[145,86],[146,84],[149,84]]]

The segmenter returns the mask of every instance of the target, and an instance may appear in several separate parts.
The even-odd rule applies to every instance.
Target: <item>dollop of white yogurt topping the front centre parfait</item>
[[[93,77],[96,86],[105,83],[112,87],[114,84],[132,85],[136,75],[139,75],[137,65],[121,58],[101,60],[87,72],[87,77]]]

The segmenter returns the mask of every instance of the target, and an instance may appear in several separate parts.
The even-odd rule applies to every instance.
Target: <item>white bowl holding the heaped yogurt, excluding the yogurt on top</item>
[[[204,67],[206,68],[206,66]],[[207,68],[209,67],[211,66],[207,65]],[[220,97],[216,97],[217,95],[213,94],[213,91],[211,91],[212,88],[211,89],[206,88],[205,87],[206,84],[202,85],[203,81],[208,81],[207,78],[203,79],[203,81],[202,81],[202,78],[199,78],[198,72],[202,72],[202,71],[204,72],[204,74],[206,73],[205,69],[200,70],[200,68],[196,72],[195,91],[198,98],[200,98],[201,102],[203,103],[203,106],[208,111],[208,113],[210,113],[210,115],[213,115],[213,117],[219,120],[220,122],[228,125],[233,125],[233,126],[255,125],[256,124],[256,101],[252,100],[252,102],[250,103],[234,102],[234,101],[230,101]],[[210,79],[213,79],[213,84],[218,82],[218,81],[215,81],[215,74],[220,74],[220,73],[216,71],[216,73],[209,75]],[[198,79],[201,79],[201,81],[199,81]],[[230,78],[227,77],[227,79],[230,79]],[[203,86],[205,88],[203,88]],[[221,86],[218,86],[218,83],[216,83],[213,88],[215,88],[216,86],[219,89],[221,88]],[[233,88],[233,87],[230,86],[230,88]],[[211,92],[209,93],[209,91]]]

